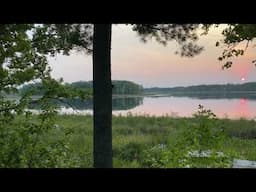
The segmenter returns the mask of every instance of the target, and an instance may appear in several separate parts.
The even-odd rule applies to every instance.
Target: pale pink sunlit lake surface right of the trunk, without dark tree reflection
[[[156,97],[143,99],[143,104],[130,110],[113,111],[113,114],[126,114],[128,111],[137,114],[172,115],[190,117],[198,105],[211,109],[218,117],[255,118],[256,100],[241,99],[196,99],[188,97]]]

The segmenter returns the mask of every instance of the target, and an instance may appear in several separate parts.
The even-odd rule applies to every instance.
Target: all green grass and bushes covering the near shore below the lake
[[[93,166],[92,116],[53,113],[16,117],[1,137],[1,167]],[[128,114],[112,121],[114,167],[230,167],[233,158],[256,160],[254,120],[216,119],[200,106],[191,118]],[[195,155],[209,150],[207,157]]]

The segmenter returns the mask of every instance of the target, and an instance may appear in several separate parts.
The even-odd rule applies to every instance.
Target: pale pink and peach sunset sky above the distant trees
[[[207,36],[200,36],[198,44],[204,51],[194,58],[175,55],[178,45],[174,41],[167,46],[154,40],[140,41],[131,26],[112,27],[112,79],[129,80],[144,87],[174,87],[197,84],[225,84],[256,81],[254,44],[249,45],[244,56],[234,61],[231,69],[222,70],[223,63],[217,60],[223,47],[215,47],[222,39],[220,26],[210,30]],[[245,47],[244,45],[241,45]],[[92,80],[92,56],[74,53],[70,56],[50,58],[55,78],[63,77],[65,82]],[[242,78],[243,81],[242,81]]]

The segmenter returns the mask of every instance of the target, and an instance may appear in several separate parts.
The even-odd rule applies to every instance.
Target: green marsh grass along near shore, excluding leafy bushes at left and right
[[[218,120],[227,139],[218,150],[235,152],[238,158],[256,160],[256,122],[254,120]],[[114,167],[143,167],[141,154],[154,146],[177,142],[183,129],[195,123],[195,118],[169,116],[113,116]],[[73,130],[70,136],[72,156],[78,159],[77,167],[92,167],[93,119],[91,115],[58,115],[56,124]]]

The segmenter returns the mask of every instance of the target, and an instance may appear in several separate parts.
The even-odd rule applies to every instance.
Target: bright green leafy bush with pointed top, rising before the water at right
[[[144,151],[146,167],[230,167],[231,154],[218,149],[226,138],[224,129],[211,110],[199,105],[195,122],[186,126],[172,146],[158,145]]]

